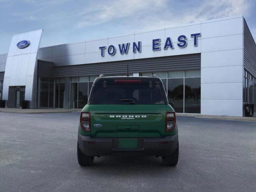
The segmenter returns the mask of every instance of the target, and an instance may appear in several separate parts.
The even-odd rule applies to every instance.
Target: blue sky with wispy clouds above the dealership
[[[38,29],[46,47],[240,15],[256,41],[256,0],[0,0],[0,54]]]

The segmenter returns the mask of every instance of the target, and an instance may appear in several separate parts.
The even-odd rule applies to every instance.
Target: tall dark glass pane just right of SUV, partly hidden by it
[[[183,78],[168,79],[168,102],[178,113],[183,113],[183,88]]]

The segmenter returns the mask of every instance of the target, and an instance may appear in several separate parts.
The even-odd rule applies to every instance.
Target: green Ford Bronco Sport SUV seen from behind
[[[80,115],[77,156],[80,166],[95,156],[161,156],[178,163],[178,126],[162,80],[152,77],[104,77],[93,82]]]

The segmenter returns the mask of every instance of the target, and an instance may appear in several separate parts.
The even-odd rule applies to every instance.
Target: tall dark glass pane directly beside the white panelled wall
[[[200,78],[185,78],[185,113],[200,113],[200,103]]]

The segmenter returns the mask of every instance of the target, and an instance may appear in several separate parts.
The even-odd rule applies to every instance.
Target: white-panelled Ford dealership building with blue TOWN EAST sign
[[[256,110],[256,43],[243,16],[40,48],[43,30],[14,35],[0,55],[5,107],[83,108],[96,77],[162,79],[178,113]]]

